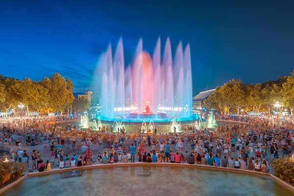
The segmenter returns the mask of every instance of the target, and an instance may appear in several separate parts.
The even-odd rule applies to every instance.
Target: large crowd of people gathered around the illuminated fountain
[[[25,146],[18,139],[16,149],[6,156],[40,172],[50,170],[53,165],[69,168],[120,162],[188,163],[269,172],[271,158],[293,153],[292,123],[280,125],[266,117],[235,121],[242,123],[223,124],[215,127],[215,131],[193,127],[189,132],[169,134],[161,134],[160,130],[157,134],[140,130],[108,134],[77,130],[72,125],[62,130],[56,121],[28,121],[31,125],[25,131],[3,124],[1,140],[11,142],[9,138],[16,133],[23,136]],[[30,154],[23,149],[36,144],[39,149],[33,149]]]

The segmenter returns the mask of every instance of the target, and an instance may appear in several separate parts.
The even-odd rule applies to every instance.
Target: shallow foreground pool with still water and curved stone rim
[[[139,175],[144,171],[149,175]],[[174,166],[116,166],[27,177],[1,196],[291,196],[269,176]]]

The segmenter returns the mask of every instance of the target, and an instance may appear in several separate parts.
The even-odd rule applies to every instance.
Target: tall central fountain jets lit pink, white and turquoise
[[[140,39],[132,61],[124,62],[123,39],[102,52],[92,81],[92,90],[100,92],[101,113],[95,117],[101,123],[123,121],[130,129],[145,127],[144,122],[156,124],[162,132],[174,120],[193,126],[197,114],[192,114],[192,73],[189,43],[179,42],[172,56],[171,41],[167,38],[161,53],[158,38],[153,53],[143,50]],[[127,65],[127,66],[125,66]],[[143,124],[143,125],[142,125]],[[164,130],[162,130],[163,128]],[[180,129],[179,129],[180,130]]]

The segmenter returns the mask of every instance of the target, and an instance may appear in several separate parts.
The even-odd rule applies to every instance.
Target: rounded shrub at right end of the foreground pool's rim
[[[294,159],[292,157],[284,156],[273,159],[272,169],[276,176],[294,185]]]

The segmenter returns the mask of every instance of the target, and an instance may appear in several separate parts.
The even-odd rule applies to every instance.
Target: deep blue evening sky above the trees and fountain
[[[194,94],[231,78],[289,75],[293,1],[237,1],[2,1],[0,74],[39,80],[58,72],[83,92],[109,43],[115,48],[123,37],[127,64],[139,38],[152,52],[158,36],[170,36],[173,54],[180,40],[190,42]]]

